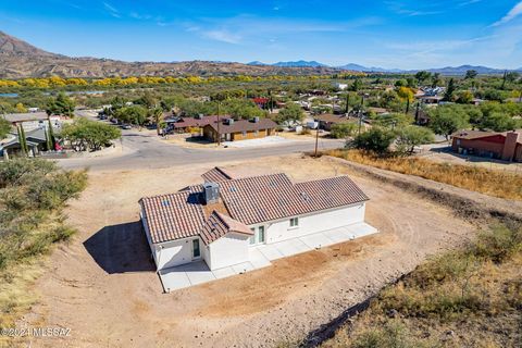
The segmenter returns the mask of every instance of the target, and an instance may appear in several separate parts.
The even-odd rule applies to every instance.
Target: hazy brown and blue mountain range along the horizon
[[[504,70],[487,66],[461,65],[430,69],[442,75],[462,75],[468,70],[478,74],[502,74]],[[247,64],[221,61],[186,62],[124,62],[104,58],[72,58],[41,50],[26,41],[0,32],[0,78],[46,77],[108,77],[108,76],[212,76],[212,75],[328,75],[341,71],[374,73],[415,73],[415,70],[368,67],[359,64],[328,66],[316,61],[289,61]],[[522,72],[522,67],[518,71]]]

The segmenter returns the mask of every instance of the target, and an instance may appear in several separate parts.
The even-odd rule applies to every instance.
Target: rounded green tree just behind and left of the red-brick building
[[[455,132],[469,126],[469,116],[458,105],[443,105],[430,110],[430,128],[446,139]]]

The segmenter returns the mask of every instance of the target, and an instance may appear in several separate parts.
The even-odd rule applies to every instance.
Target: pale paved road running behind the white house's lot
[[[161,141],[149,132],[123,130],[122,154],[100,158],[77,158],[59,160],[65,169],[90,167],[91,170],[132,170],[138,167],[170,167],[190,163],[227,162],[248,160],[268,156],[313,151],[311,139],[293,141],[286,145],[236,148],[236,149],[194,149]],[[320,139],[320,149],[333,149],[344,145],[341,140]]]

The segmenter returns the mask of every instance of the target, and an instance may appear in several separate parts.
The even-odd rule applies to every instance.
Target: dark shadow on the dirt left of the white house
[[[140,221],[105,226],[85,240],[84,247],[109,274],[156,272]]]

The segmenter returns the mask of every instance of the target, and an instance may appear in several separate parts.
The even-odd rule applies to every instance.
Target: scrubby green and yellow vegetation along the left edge
[[[0,327],[13,327],[34,302],[29,286],[41,269],[40,256],[74,233],[63,209],[86,185],[85,172],[62,171],[50,161],[0,163]]]

